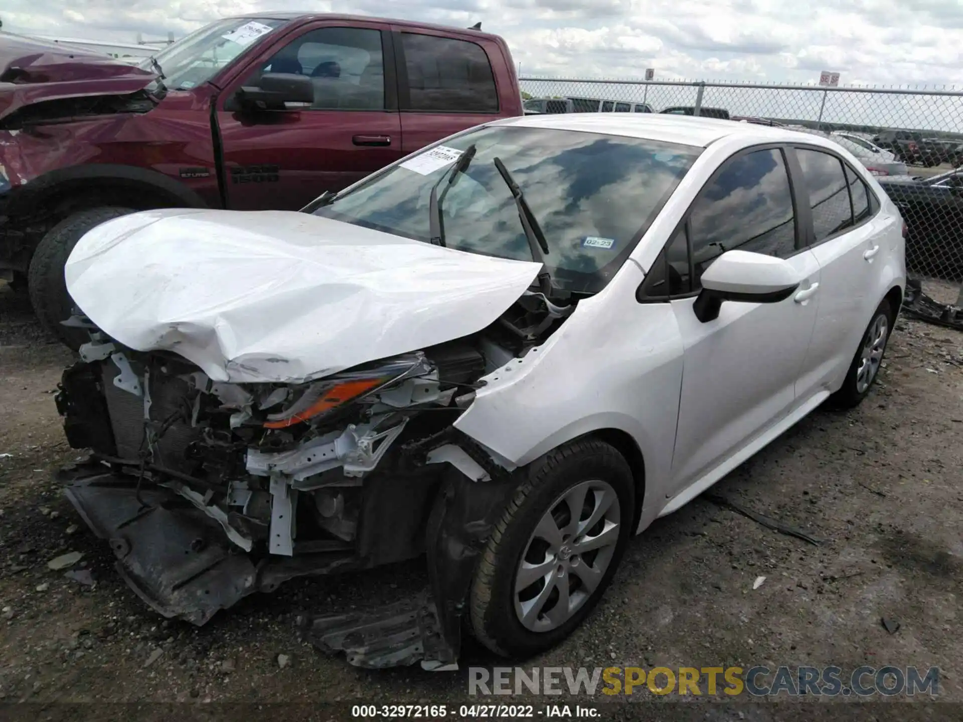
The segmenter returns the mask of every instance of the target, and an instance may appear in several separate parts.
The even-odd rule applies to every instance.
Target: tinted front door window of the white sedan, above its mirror
[[[692,205],[690,231],[694,283],[727,250],[792,255],[793,193],[782,152],[756,150],[726,161]]]

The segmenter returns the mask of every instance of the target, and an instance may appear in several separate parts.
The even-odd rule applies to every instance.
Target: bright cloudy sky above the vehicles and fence
[[[133,41],[228,14],[309,10],[503,35],[523,75],[963,85],[963,0],[4,0],[13,32]]]

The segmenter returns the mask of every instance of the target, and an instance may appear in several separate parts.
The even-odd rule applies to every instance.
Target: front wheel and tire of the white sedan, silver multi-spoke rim
[[[524,474],[481,555],[469,599],[476,638],[492,652],[515,658],[554,647],[585,620],[612,580],[635,519],[629,464],[599,439],[566,444],[534,461]],[[574,517],[580,490],[584,501]],[[587,527],[596,515],[599,521]],[[545,537],[556,537],[556,544]],[[580,554],[580,549],[586,551]],[[516,588],[516,580],[525,583],[523,571],[524,580],[532,581]],[[563,588],[567,606],[561,601]]]

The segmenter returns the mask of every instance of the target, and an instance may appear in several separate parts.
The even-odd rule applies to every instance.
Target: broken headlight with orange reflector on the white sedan
[[[429,372],[431,366],[421,353],[401,356],[385,363],[335,374],[293,389],[293,400],[283,411],[268,414],[265,428],[287,428],[325,415],[345,404],[413,375]]]

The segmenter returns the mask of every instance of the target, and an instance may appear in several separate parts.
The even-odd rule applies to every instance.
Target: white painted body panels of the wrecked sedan
[[[509,468],[592,431],[625,434],[644,460],[639,531],[708,488],[836,391],[872,310],[905,285],[896,207],[857,159],[820,136],[669,115],[525,116],[496,124],[705,147],[609,284],[581,300],[543,346],[487,374],[455,422]],[[779,281],[798,284],[798,293],[778,303],[726,301],[717,319],[703,323],[695,318],[692,297],[638,302],[646,271],[716,168],[762,143],[821,147],[843,156],[876,194],[879,213],[871,223],[778,264]],[[168,231],[176,230],[168,252],[152,251],[148,243],[169,238],[160,222],[156,233],[149,230],[151,221],[160,219],[169,221]],[[81,250],[68,264],[68,287],[91,319],[110,322],[124,343],[130,339],[142,350],[174,348],[231,380],[248,380],[227,362],[280,353],[299,365],[299,375],[321,375],[349,368],[351,359],[362,363],[466,335],[494,321],[537,270],[525,262],[465,259],[469,254],[335,221],[314,225],[314,220],[227,212],[148,212],[117,219],[78,245]],[[199,238],[214,238],[218,247],[202,253],[203,269],[193,268]],[[127,245],[131,252],[111,261],[117,262],[112,271],[95,271],[96,256],[106,258],[114,245]],[[243,259],[232,261],[239,247]],[[185,257],[170,259],[170,251]],[[124,264],[134,266],[122,269]],[[759,288],[775,268],[765,262],[759,266],[762,274],[752,274],[746,288]],[[340,274],[344,285],[322,278],[330,271]],[[285,289],[291,278],[299,279],[298,293],[289,298]],[[120,291],[97,291],[106,281],[119,284]],[[226,284],[226,294],[220,284]],[[184,303],[174,304],[177,313],[170,313],[168,301],[139,293],[143,286],[161,296],[177,290]],[[253,297],[246,298],[247,292]],[[110,309],[109,297],[117,300],[117,294],[134,301],[130,314]],[[358,302],[341,305],[352,294]],[[226,324],[218,315],[221,304],[230,311]],[[298,323],[284,314],[294,314]],[[201,321],[196,333],[192,319]],[[165,323],[172,323],[176,333],[168,335]],[[269,329],[273,325],[279,328]],[[293,332],[296,326],[300,334]],[[249,340],[248,329],[256,330],[257,342],[238,343],[238,338]],[[111,328],[105,330],[113,335]],[[278,342],[283,348],[272,346]],[[188,355],[189,348],[196,358]],[[260,380],[266,374],[253,376]]]

